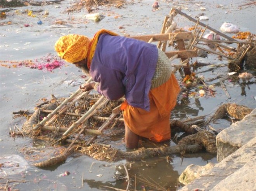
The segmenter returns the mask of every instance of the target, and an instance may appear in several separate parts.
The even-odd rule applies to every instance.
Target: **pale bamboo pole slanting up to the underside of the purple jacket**
[[[105,99],[105,100],[104,100]],[[103,101],[104,100],[104,101]],[[94,114],[97,110],[97,107],[105,104],[107,102],[107,98],[102,95],[100,99],[80,118],[78,121],[73,123],[65,133],[63,133],[62,137],[66,136],[69,132],[71,132],[75,127],[78,126],[78,124],[83,123],[85,120],[87,120],[92,114]]]

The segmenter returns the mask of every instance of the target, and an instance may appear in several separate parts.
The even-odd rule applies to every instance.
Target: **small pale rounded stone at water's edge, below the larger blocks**
[[[179,177],[179,182],[182,184],[189,184],[194,179],[206,174],[209,169],[212,169],[214,164],[209,162],[207,165],[199,166],[195,164],[190,164],[187,168],[182,172]]]

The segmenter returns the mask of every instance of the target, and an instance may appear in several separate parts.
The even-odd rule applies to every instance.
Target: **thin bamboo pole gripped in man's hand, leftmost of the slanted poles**
[[[86,82],[85,84],[89,83],[90,81],[92,81],[92,78],[90,77]],[[78,93],[81,92],[81,89],[78,89],[76,90],[76,92],[74,92],[71,96],[69,96],[69,98],[65,99],[56,109],[54,109],[54,111],[50,114],[47,115],[46,118],[43,118],[43,120],[37,124],[33,130],[37,130],[38,128],[40,128],[42,125],[44,125],[47,121],[49,121],[55,114],[57,114],[57,112],[65,105],[67,104],[68,102],[70,102],[71,100],[74,99],[74,97],[76,97],[76,95]]]

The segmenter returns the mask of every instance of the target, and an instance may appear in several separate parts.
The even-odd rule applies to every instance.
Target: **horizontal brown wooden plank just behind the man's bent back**
[[[169,39],[181,40],[181,39],[191,39],[192,32],[174,32],[168,34],[149,34],[149,35],[141,35],[141,36],[129,36],[128,38],[134,38],[141,41],[149,42],[151,38],[154,41],[168,41]]]

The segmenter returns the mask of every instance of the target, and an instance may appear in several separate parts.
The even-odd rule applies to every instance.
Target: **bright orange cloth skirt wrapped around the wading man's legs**
[[[150,90],[150,111],[123,104],[125,123],[133,133],[154,142],[170,140],[170,115],[179,92],[180,86],[172,74],[167,82]]]

